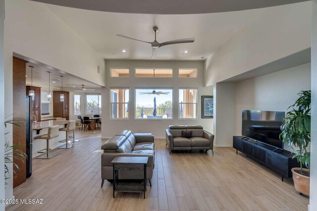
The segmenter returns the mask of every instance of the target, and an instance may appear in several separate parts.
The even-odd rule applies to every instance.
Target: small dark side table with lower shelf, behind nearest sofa
[[[147,190],[147,163],[148,157],[128,157],[117,156],[111,163],[113,164],[113,198],[115,192],[145,192]],[[136,182],[119,182],[119,170],[143,170],[143,181]]]

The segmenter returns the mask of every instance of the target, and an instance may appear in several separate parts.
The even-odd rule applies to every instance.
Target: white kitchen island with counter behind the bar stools
[[[59,126],[60,128],[66,127],[68,120],[49,120],[43,122],[36,122],[32,124],[32,141],[33,141],[33,150],[32,157],[35,158],[43,153],[38,153],[38,151],[46,149],[46,140],[35,139],[35,136],[48,133],[49,127]],[[50,140],[50,148],[55,149],[65,144],[65,142],[58,142],[66,138],[66,133],[64,131],[59,131],[59,136]]]

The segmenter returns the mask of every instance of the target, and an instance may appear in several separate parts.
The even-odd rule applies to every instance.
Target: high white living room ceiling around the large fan
[[[154,25],[159,27],[158,42],[196,39],[194,43],[160,47],[156,57],[160,60],[198,60],[208,57],[265,10],[153,15],[102,12],[52,4],[47,6],[106,59],[151,59],[152,47],[149,43],[119,38],[116,34],[152,42]],[[127,52],[123,53],[122,49]],[[189,52],[184,53],[185,50]]]

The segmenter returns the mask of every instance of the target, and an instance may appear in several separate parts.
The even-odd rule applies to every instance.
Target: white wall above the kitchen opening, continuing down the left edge
[[[3,36],[1,36],[2,38]],[[5,0],[5,115],[13,113],[13,52],[96,84],[106,85],[104,59],[45,4],[30,0]],[[101,70],[100,74],[97,73],[98,65]],[[10,126],[6,128],[7,132],[11,130]],[[7,138],[12,140],[12,134],[9,133]],[[13,196],[12,179],[8,179],[6,182],[8,184],[5,189],[5,197],[10,199]]]

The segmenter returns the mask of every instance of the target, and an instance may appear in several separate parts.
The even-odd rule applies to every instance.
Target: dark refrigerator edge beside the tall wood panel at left
[[[26,96],[26,178],[29,178],[32,174],[32,98]]]

